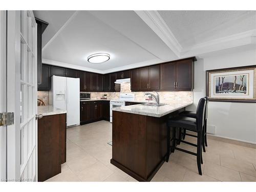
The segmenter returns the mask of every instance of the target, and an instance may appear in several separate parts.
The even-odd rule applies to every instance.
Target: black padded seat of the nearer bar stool
[[[174,117],[167,122],[169,127],[186,127],[187,130],[197,131],[197,120],[190,117]]]

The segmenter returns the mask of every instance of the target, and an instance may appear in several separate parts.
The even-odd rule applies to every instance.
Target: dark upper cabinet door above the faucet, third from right
[[[160,66],[152,66],[148,68],[148,89],[151,91],[160,89]]]

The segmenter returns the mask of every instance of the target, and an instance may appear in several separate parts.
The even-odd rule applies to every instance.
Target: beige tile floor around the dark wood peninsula
[[[112,124],[98,121],[67,130],[67,162],[61,173],[47,181],[136,181],[110,164]],[[186,137],[196,142],[196,138]],[[196,148],[181,143],[181,148]],[[203,153],[203,175],[198,175],[196,156],[179,151],[170,155],[152,181],[254,181],[256,149],[208,139]]]

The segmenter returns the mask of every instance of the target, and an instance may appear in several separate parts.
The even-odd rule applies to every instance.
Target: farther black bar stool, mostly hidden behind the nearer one
[[[209,102],[209,97],[204,97],[206,99],[206,104],[205,104],[205,113],[204,113],[204,127],[203,127],[203,137],[202,137],[202,146],[203,146],[203,151],[205,151],[205,146],[207,146],[207,117],[208,117],[208,102]],[[183,117],[190,117],[190,118],[196,118],[196,113],[193,111],[183,111],[179,115]],[[190,137],[197,137],[196,135],[191,135],[186,133],[186,129],[183,131],[183,140],[185,139],[185,136],[190,136]],[[181,137],[181,134],[180,134]]]

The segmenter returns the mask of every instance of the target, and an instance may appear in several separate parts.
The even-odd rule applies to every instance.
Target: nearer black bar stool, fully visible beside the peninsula
[[[197,156],[197,166],[198,166],[198,172],[199,175],[202,175],[201,170],[201,163],[203,163],[202,159],[202,130],[204,126],[204,111],[205,111],[205,104],[206,104],[206,98],[201,98],[199,100],[198,106],[197,106],[197,113],[196,118],[190,118],[190,117],[183,117],[183,116],[177,116],[174,118],[170,118],[167,121],[167,154],[166,154],[166,162],[169,160],[170,155],[170,127],[173,127],[173,146],[172,146],[172,152],[175,150],[179,150],[181,152],[185,152],[191,155]],[[197,132],[197,144],[190,143],[187,141],[183,141],[180,139],[176,139],[176,127],[180,130],[181,127],[184,127],[186,130]],[[176,147],[176,140],[192,145],[197,147],[197,153],[190,152],[187,150],[183,150],[182,148]]]

